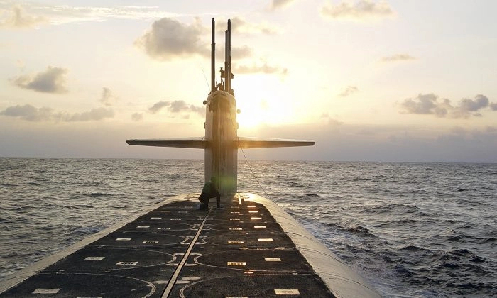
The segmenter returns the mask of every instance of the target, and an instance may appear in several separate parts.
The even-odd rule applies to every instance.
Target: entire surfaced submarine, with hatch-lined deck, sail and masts
[[[315,142],[238,136],[231,21],[219,84],[214,31],[212,18],[205,135],[126,143],[203,149],[205,182],[215,178],[224,206],[165,199],[7,277],[0,297],[381,297],[271,198],[238,191],[239,149]]]

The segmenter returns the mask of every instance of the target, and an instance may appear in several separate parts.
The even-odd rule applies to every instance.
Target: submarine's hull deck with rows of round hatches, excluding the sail
[[[195,194],[163,202],[40,261],[40,270],[22,270],[0,285],[0,297],[335,297],[275,220],[278,211],[251,197],[223,197],[224,208],[209,210],[195,209]],[[318,252],[317,263],[319,255],[330,257]]]

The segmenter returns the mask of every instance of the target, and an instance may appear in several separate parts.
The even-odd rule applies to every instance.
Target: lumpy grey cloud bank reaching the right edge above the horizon
[[[453,106],[449,99],[439,99],[435,94],[419,94],[415,99],[405,99],[400,104],[405,113],[408,114],[432,114],[438,117],[469,118],[471,116],[481,116],[479,111],[493,106],[488,98],[478,94],[474,99],[461,99],[459,105]]]

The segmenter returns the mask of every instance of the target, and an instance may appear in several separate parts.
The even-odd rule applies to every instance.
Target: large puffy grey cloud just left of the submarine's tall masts
[[[195,55],[209,57],[209,44],[201,40],[202,35],[207,32],[200,18],[195,18],[191,25],[173,18],[161,18],[153,22],[152,28],[138,38],[135,45],[157,60],[167,61],[175,57]]]

